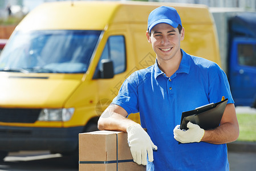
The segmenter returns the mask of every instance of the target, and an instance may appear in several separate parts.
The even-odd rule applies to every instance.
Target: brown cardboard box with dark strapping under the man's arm
[[[133,162],[127,133],[95,131],[79,133],[79,170],[135,170],[146,167]]]

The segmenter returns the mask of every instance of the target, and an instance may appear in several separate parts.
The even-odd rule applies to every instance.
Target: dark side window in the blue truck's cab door
[[[256,67],[256,45],[238,44],[238,63],[242,66]]]

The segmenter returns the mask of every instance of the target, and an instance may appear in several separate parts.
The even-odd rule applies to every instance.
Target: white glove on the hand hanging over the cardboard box
[[[149,137],[148,133],[140,126],[140,124],[132,124],[127,128],[128,144],[131,149],[132,158],[137,164],[147,165],[148,161],[153,161],[153,150],[157,149]]]

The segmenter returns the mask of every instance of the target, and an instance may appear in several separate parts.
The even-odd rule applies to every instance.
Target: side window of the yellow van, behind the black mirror
[[[114,74],[120,74],[126,70],[125,39],[123,35],[109,36],[99,63],[95,70],[94,79],[100,78],[101,60],[111,59],[113,62]]]

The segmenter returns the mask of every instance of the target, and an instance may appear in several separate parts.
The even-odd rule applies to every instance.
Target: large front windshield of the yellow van
[[[0,71],[84,73],[101,31],[17,31],[0,57]]]

